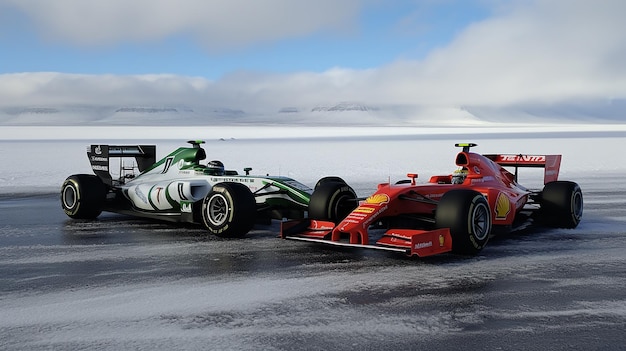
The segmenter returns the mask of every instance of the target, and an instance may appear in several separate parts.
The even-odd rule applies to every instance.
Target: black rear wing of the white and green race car
[[[109,158],[133,157],[139,172],[143,172],[156,162],[156,145],[90,145],[87,157],[94,173],[110,186]]]

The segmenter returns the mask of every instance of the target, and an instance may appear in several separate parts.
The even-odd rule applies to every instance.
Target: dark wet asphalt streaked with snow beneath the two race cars
[[[623,350],[626,189],[476,257],[339,249],[0,198],[2,350]]]

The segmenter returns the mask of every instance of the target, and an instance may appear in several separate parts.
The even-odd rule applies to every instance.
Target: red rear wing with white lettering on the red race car
[[[503,167],[515,167],[515,180],[517,181],[517,169],[519,167],[541,167],[543,183],[547,184],[558,180],[561,168],[561,155],[506,155],[491,154],[483,155]]]

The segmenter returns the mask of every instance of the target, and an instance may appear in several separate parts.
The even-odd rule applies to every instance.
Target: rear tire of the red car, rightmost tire
[[[541,220],[557,228],[576,228],[583,216],[583,193],[574,182],[546,184],[541,193]]]

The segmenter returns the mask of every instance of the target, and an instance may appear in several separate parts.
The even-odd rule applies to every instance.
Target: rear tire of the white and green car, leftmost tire
[[[93,174],[74,174],[61,186],[61,207],[75,219],[95,219],[102,213],[107,187]]]

